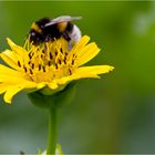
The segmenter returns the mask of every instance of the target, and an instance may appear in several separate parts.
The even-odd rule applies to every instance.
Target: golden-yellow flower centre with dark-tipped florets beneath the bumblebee
[[[33,45],[28,39],[24,49],[28,54],[18,65],[29,80],[50,82],[72,74],[76,56],[70,56],[69,42],[63,38],[40,45]]]

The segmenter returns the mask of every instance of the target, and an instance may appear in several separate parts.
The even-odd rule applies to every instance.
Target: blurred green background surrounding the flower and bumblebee
[[[115,70],[101,80],[82,80],[73,103],[59,113],[64,153],[155,153],[155,2],[0,2],[0,50],[6,38],[22,44],[33,21],[62,14],[102,49],[89,64]],[[11,105],[0,97],[0,153],[45,148],[48,114],[25,94]]]

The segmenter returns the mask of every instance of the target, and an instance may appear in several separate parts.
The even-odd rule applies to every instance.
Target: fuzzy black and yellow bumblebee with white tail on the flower
[[[71,43],[76,43],[81,39],[81,31],[71,21],[80,19],[81,17],[70,16],[58,17],[52,20],[50,18],[42,18],[32,23],[28,37],[30,37],[30,41],[34,45],[53,41],[61,37]]]

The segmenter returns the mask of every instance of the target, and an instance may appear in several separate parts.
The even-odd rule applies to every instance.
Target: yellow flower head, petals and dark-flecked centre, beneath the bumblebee
[[[63,89],[71,81],[99,78],[99,74],[112,71],[110,65],[81,66],[93,59],[100,49],[87,35],[69,50],[64,39],[33,45],[29,39],[24,46],[7,39],[11,50],[1,53],[1,59],[11,68],[0,64],[0,94],[11,103],[12,96],[22,90],[38,91]]]

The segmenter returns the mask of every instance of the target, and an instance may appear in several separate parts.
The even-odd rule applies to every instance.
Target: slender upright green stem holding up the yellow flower
[[[56,107],[50,107],[49,111],[49,141],[46,155],[55,155],[56,148]]]

